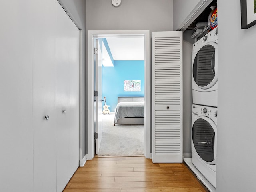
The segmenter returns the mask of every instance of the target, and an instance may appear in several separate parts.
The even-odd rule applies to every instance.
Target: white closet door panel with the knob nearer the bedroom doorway
[[[70,18],[57,7],[56,40],[56,158],[57,192],[70,179]]]

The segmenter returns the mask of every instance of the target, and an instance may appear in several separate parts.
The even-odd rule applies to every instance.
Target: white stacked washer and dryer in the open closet
[[[193,44],[192,163],[216,187],[218,31]]]

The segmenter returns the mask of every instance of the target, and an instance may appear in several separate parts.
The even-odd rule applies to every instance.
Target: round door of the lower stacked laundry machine
[[[192,126],[192,148],[207,164],[216,164],[217,126],[208,117],[198,117]]]

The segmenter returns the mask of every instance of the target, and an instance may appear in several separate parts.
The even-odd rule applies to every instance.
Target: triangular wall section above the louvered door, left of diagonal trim
[[[176,30],[200,0],[173,0],[173,29]]]

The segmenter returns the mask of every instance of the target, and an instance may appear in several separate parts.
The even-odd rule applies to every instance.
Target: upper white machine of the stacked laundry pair
[[[217,107],[218,30],[214,28],[192,48],[193,103]]]

